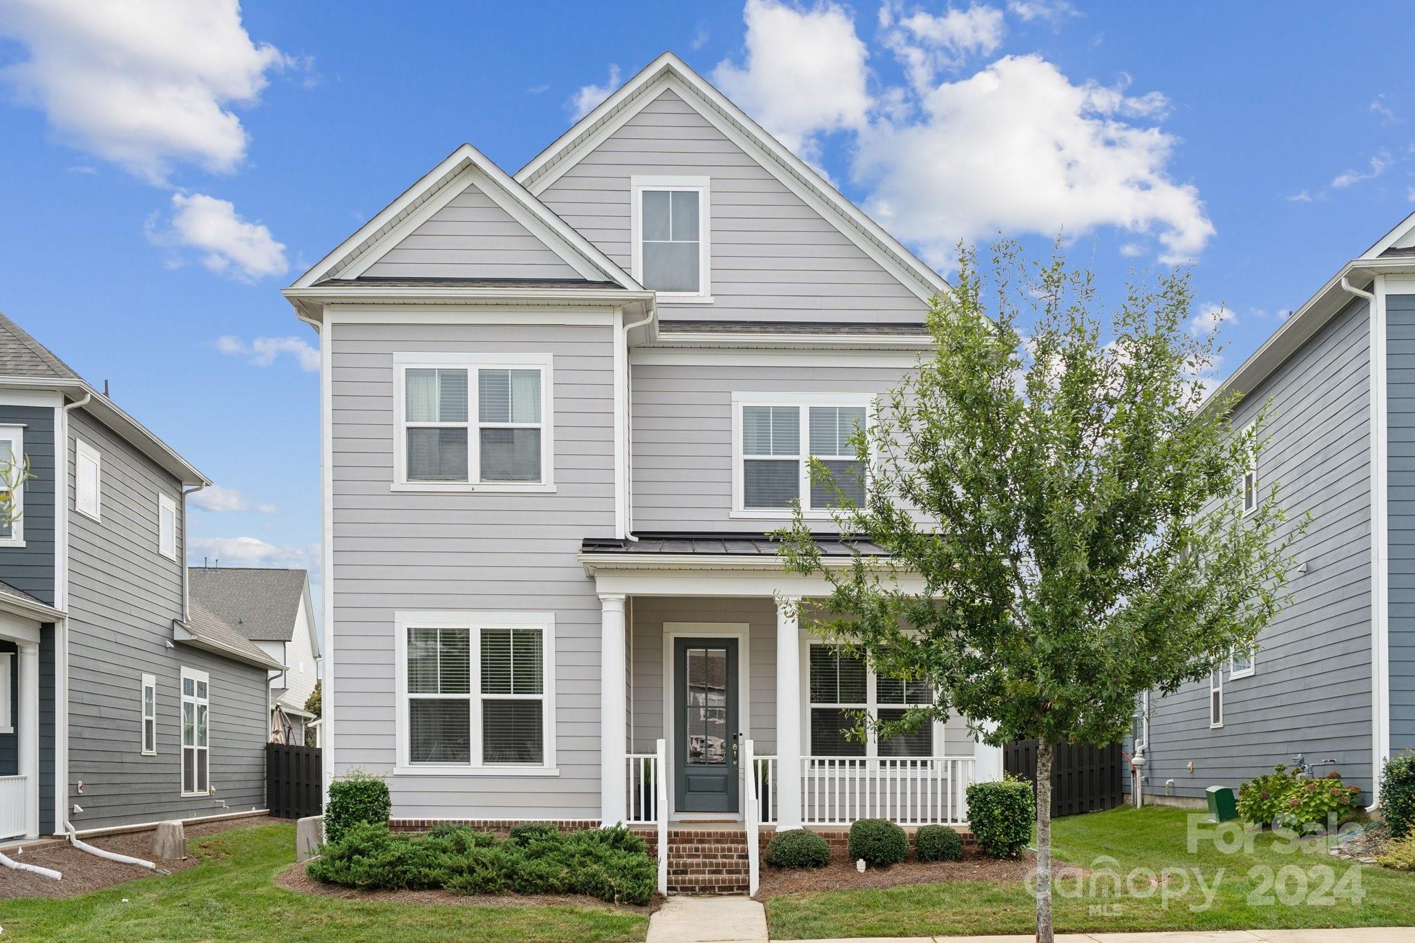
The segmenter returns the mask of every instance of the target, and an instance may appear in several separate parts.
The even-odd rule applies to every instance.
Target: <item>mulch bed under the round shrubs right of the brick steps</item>
[[[757,899],[775,898],[785,894],[807,894],[811,891],[865,891],[870,888],[897,888],[908,884],[944,884],[948,881],[1026,881],[1037,869],[1037,860],[1030,851],[1017,860],[998,860],[979,854],[975,848],[964,850],[962,861],[901,861],[887,868],[866,868],[865,874],[855,869],[855,861],[843,850],[831,853],[831,864],[824,868],[774,868],[761,865],[761,885]],[[1053,878],[1084,875],[1082,868],[1051,862]]]

